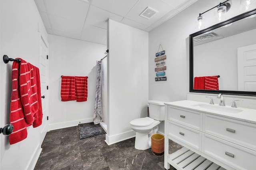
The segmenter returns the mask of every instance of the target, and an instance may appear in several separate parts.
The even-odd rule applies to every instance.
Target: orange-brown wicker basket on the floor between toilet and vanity
[[[164,135],[152,134],[151,136],[151,150],[154,155],[161,156],[164,154]]]

